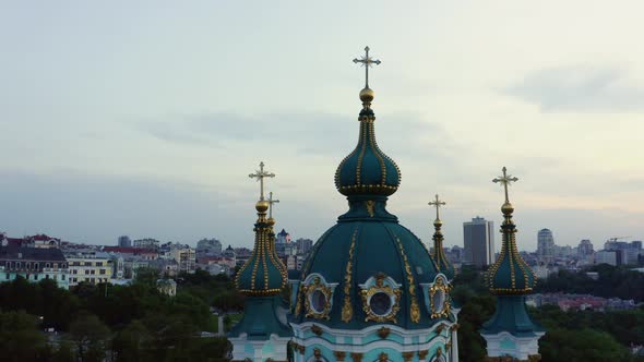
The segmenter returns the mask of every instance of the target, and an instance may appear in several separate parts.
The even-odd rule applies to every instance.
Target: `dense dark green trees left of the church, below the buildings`
[[[48,279],[0,283],[0,350],[11,352],[3,359],[223,361],[228,341],[201,333],[217,331],[211,306],[242,307],[231,280],[204,272],[182,275],[170,298],[157,290],[155,273],[140,276],[131,286],[80,285],[72,291]],[[43,328],[57,334],[46,337]]]

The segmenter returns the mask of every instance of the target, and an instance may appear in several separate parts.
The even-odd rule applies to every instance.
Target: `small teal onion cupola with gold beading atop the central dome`
[[[368,105],[360,111],[358,145],[335,171],[335,186],[343,195],[391,195],[401,184],[398,166],[378,147],[375,116]]]

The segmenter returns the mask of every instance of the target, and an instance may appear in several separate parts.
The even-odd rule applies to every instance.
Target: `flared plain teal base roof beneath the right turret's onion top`
[[[508,331],[516,337],[534,337],[545,329],[527,314],[524,295],[498,295],[497,311],[481,328],[484,335]]]

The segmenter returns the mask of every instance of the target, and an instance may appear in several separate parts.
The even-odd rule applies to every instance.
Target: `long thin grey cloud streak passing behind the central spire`
[[[151,136],[192,146],[231,147],[239,143],[291,148],[297,154],[342,157],[358,140],[358,116],[332,113],[271,113],[246,117],[232,113],[204,113],[177,117],[172,120],[142,122],[138,126]],[[437,123],[407,113],[378,117],[377,135],[384,144],[404,145],[412,154],[427,153],[424,138],[446,137]],[[383,137],[382,135],[389,136]],[[442,141],[441,141],[442,142]],[[386,153],[387,150],[383,150]]]

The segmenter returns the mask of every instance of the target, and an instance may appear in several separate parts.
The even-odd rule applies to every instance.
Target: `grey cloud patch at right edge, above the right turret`
[[[544,112],[633,112],[644,110],[644,85],[618,67],[542,69],[504,89]]]

